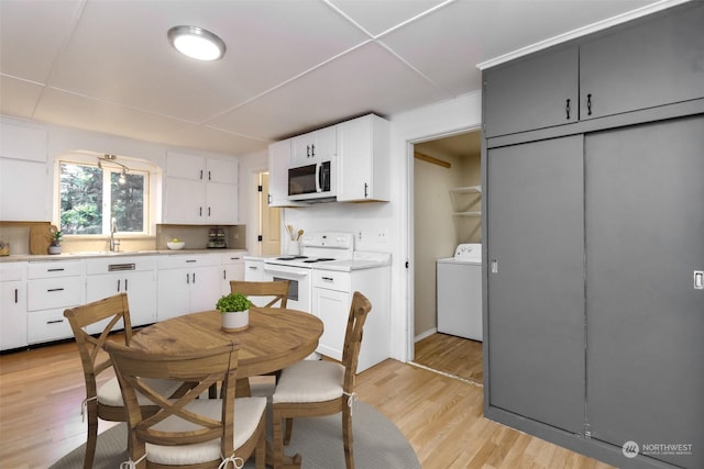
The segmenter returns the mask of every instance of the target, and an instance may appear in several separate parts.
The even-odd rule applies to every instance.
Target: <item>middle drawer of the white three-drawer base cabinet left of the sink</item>
[[[84,301],[84,278],[66,277],[38,279],[28,282],[28,311],[67,308]]]

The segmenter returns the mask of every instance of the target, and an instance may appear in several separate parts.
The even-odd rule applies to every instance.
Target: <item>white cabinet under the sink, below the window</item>
[[[86,259],[86,302],[127,292],[132,327],[156,321],[156,256]],[[103,327],[96,323],[88,332],[98,334]]]

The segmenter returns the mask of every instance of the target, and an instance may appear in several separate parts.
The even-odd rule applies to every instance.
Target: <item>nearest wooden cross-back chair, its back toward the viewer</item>
[[[142,350],[118,343],[106,344],[114,364],[128,407],[129,457],[136,468],[240,468],[255,456],[257,469],[266,459],[265,398],[239,398],[239,346],[233,342],[190,353]],[[150,380],[173,380],[193,386],[169,399]],[[220,399],[205,392],[221,382]],[[144,415],[138,397],[158,407]],[[222,465],[222,466],[221,466]]]

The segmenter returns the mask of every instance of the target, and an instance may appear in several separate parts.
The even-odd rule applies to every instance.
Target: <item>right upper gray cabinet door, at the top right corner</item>
[[[704,98],[704,2],[580,47],[581,120]]]

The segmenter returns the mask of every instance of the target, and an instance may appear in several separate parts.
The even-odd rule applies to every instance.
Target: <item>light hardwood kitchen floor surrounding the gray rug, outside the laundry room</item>
[[[360,373],[356,391],[406,435],[425,469],[609,468],[484,418],[481,386],[413,365],[385,360]],[[0,468],[46,468],[82,444],[84,397],[73,343],[0,356]]]

